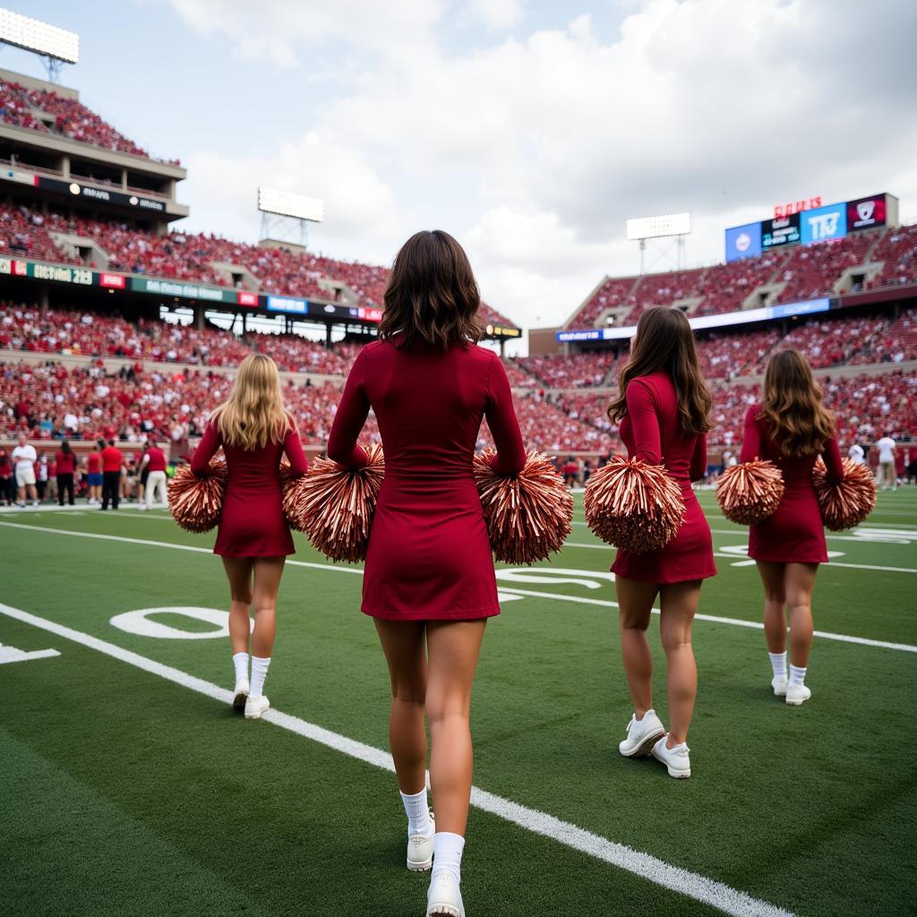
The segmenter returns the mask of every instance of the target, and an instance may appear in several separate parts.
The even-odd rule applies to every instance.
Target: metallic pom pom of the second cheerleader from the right
[[[665,547],[685,515],[681,489],[661,465],[623,456],[590,476],[583,508],[595,535],[632,554]]]

